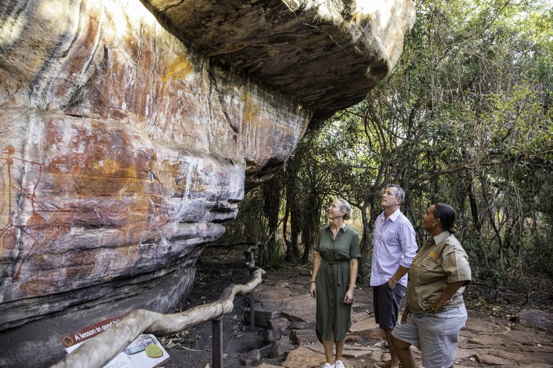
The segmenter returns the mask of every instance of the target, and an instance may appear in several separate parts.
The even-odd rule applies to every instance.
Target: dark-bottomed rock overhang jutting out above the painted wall
[[[320,122],[366,97],[399,59],[412,0],[144,0],[165,27]]]

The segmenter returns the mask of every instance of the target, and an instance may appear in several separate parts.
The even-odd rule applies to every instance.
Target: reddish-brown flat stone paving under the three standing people
[[[309,275],[271,273],[256,288],[256,325],[268,328],[265,339],[272,344],[271,352],[270,358],[262,361],[244,358],[245,364],[321,367],[324,349],[315,336],[315,299],[309,295],[309,280]],[[373,318],[371,288],[355,291],[352,319],[344,349],[346,368],[372,368],[374,362],[389,360],[384,335]],[[510,322],[469,311],[467,326],[460,335],[456,367],[553,367],[550,314],[529,311],[524,316],[521,313],[517,322]],[[413,350],[420,365],[420,351]]]

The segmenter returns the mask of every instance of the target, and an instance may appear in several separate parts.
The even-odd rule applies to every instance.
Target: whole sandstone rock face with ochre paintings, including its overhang
[[[411,0],[344,3],[0,2],[0,366],[178,307],[245,190],[400,56]]]

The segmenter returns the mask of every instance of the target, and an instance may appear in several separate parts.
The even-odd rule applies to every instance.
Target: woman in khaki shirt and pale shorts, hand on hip
[[[453,236],[455,210],[436,203],[422,215],[430,233],[409,271],[407,305],[392,331],[392,343],[404,368],[415,368],[411,345],[422,353],[425,368],[453,367],[459,331],[467,322],[462,292],[471,282],[467,253]]]

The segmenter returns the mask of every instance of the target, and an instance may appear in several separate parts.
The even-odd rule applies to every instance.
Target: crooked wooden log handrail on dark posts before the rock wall
[[[250,257],[250,252],[248,252],[247,257]],[[248,260],[250,259],[248,258]],[[221,368],[223,366],[222,321],[223,316],[234,309],[234,296],[243,296],[250,293],[250,323],[252,324],[251,328],[254,328],[253,292],[254,288],[261,284],[265,271],[258,267],[253,267],[252,263],[254,262],[246,262],[248,282],[238,285],[230,284],[223,290],[223,293],[221,293],[221,296],[215,302],[199,305],[187,311],[174,314],[162,314],[146,309],[132,311],[118,322],[117,325],[113,325],[113,327],[106,329],[98,336],[87,340],[51,368],[100,368],[129,346],[141,333],[167,336],[209,320],[212,321],[213,331],[213,366],[214,368]]]

